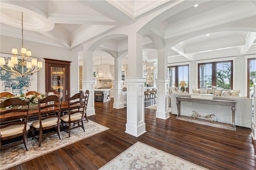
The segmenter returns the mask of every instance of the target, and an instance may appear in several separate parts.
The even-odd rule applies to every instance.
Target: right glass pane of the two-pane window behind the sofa
[[[216,64],[216,85],[224,89],[230,89],[231,63],[223,62]]]

